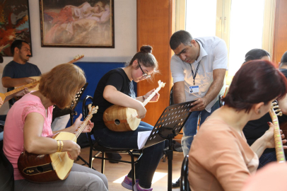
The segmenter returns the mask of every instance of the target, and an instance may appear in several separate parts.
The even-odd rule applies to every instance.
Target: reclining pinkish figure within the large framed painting
[[[110,5],[99,1],[95,6],[88,2],[81,6],[65,6],[59,13],[45,12],[52,27],[45,35],[45,43],[81,44],[83,36],[110,20]]]

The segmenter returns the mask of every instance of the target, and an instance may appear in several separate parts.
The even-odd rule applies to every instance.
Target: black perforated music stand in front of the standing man
[[[189,109],[192,108],[191,103],[194,101],[170,105],[165,108],[143,147],[145,149],[148,146],[168,140],[168,150],[166,151],[168,156],[168,191],[172,191],[172,139],[177,136],[192,113],[189,112]]]

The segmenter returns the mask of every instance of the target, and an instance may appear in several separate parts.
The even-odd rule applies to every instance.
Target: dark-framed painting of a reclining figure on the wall
[[[115,47],[114,0],[39,0],[42,47]]]

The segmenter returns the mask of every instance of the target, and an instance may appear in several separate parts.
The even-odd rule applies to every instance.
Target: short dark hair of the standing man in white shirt
[[[180,44],[190,45],[192,35],[185,30],[178,30],[170,37],[170,48],[175,50]]]

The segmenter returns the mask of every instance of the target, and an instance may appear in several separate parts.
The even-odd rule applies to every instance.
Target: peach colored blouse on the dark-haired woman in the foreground
[[[241,190],[259,164],[244,137],[221,120],[206,120],[189,151],[192,191]]]

